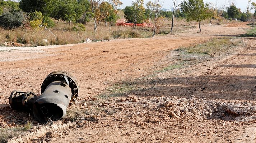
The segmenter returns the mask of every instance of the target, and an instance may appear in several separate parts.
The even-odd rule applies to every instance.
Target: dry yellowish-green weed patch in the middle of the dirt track
[[[229,50],[231,46],[238,46],[241,41],[232,41],[231,39],[213,39],[204,44],[198,44],[190,47],[180,47],[176,51],[186,51],[188,53],[208,54],[216,56]]]

